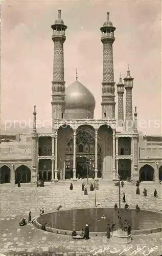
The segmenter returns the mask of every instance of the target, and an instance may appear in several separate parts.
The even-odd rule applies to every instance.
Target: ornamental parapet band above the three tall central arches
[[[94,129],[99,129],[102,125],[110,126],[115,129],[117,125],[116,119],[55,119],[53,120],[53,129],[58,130],[59,127],[65,128],[71,126],[76,130],[81,125],[91,125]]]

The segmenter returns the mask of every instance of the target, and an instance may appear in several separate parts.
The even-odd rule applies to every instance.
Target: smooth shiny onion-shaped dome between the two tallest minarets
[[[65,90],[66,109],[95,109],[94,95],[78,80]]]

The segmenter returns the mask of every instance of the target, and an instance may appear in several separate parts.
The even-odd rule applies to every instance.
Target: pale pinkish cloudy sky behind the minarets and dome
[[[101,118],[100,27],[109,11],[117,28],[113,43],[114,81],[119,82],[120,72],[122,78],[127,75],[129,63],[138,130],[149,135],[162,133],[160,1],[2,1],[1,123],[28,123],[33,118],[33,105],[38,120],[51,122],[51,25],[58,9],[67,25],[65,86],[75,81],[77,68],[78,80],[96,98],[95,118]]]

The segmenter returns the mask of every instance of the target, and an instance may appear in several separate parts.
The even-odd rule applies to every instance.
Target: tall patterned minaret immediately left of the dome
[[[58,10],[58,18],[53,29],[52,40],[54,42],[54,66],[52,81],[52,119],[64,118],[65,105],[65,81],[64,81],[64,60],[63,60],[63,43],[66,40],[64,25],[61,19],[61,10]]]

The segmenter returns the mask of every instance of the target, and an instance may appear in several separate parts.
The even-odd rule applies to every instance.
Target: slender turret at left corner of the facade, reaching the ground
[[[31,185],[36,186],[37,183],[37,141],[38,134],[36,129],[36,106],[33,112],[33,133],[32,133],[32,171],[31,171]]]

